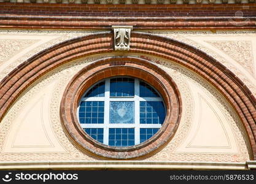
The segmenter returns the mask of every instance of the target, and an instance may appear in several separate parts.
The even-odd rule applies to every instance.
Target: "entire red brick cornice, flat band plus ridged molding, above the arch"
[[[0,2],[0,28],[255,29],[256,4],[31,4]],[[152,18],[153,17],[153,18]]]

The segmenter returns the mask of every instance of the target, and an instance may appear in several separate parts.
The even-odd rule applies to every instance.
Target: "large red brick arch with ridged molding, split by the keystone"
[[[130,52],[166,58],[201,75],[214,85],[238,113],[256,159],[256,99],[227,67],[190,45],[149,33],[131,34]],[[0,83],[0,120],[31,83],[47,72],[74,59],[114,52],[111,31],[91,34],[50,47],[20,64]],[[122,52],[120,52],[122,55]]]

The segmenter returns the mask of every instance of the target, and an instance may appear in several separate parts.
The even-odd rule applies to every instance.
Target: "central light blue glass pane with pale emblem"
[[[109,123],[134,123],[134,102],[111,102]]]

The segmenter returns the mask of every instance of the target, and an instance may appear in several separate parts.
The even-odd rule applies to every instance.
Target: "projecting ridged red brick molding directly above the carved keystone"
[[[140,29],[188,29],[219,30],[256,28],[255,17],[65,17],[41,15],[0,15],[0,28],[9,29],[109,29],[112,25],[134,26]]]

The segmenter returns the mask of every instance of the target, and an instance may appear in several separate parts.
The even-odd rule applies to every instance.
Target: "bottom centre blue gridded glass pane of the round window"
[[[134,129],[110,128],[109,145],[115,147],[127,147],[134,145]]]

